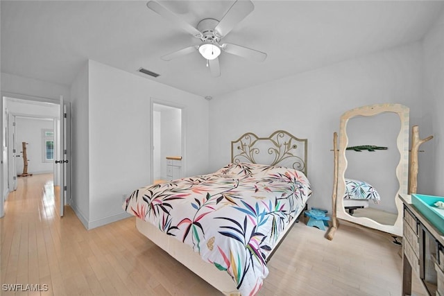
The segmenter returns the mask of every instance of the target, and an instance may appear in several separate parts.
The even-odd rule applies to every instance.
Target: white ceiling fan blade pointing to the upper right
[[[214,28],[219,37],[227,35],[234,26],[236,26],[242,19],[245,19],[255,9],[253,2],[250,0],[237,0],[230,7],[227,13],[222,17],[219,24]]]

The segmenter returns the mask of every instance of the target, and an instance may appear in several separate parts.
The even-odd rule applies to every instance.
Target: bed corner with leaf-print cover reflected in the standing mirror
[[[373,200],[375,204],[381,200],[375,187],[365,181],[345,178],[343,206],[350,215],[354,214],[355,209],[368,208],[370,200]]]

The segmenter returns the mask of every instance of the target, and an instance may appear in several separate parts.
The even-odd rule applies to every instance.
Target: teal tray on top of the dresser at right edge
[[[436,229],[444,234],[444,210],[434,206],[435,202],[444,202],[444,197],[413,193],[411,203],[429,220]]]

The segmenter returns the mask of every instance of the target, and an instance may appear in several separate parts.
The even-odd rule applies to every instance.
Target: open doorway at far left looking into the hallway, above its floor
[[[13,196],[10,193],[17,189],[18,181],[27,184],[28,179],[31,182],[31,178],[44,176],[47,184],[53,184],[54,193],[60,192],[61,168],[54,162],[60,157],[62,135],[60,104],[50,99],[2,96],[1,106],[4,116],[1,123],[3,177],[0,181],[0,216],[3,216],[4,204],[8,196]],[[56,211],[58,216],[62,216],[61,202],[65,203],[65,199],[62,200],[59,193],[54,202],[60,204]]]

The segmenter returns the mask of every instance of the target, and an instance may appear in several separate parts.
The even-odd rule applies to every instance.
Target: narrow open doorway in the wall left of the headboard
[[[183,108],[151,100],[151,183],[183,177]]]

